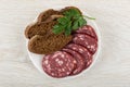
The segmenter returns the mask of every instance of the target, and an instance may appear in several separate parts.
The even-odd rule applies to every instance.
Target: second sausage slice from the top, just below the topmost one
[[[92,54],[94,54],[98,49],[98,41],[84,34],[75,34],[73,42],[86,47]]]

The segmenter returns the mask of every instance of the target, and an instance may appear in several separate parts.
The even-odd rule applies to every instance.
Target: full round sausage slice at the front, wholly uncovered
[[[43,58],[42,67],[52,77],[65,77],[76,67],[76,60],[67,52],[56,51]]]

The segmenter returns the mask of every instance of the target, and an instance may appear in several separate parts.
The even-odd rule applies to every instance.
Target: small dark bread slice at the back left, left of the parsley
[[[44,22],[48,17],[51,15],[61,15],[62,13],[60,11],[55,11],[53,9],[49,9],[44,12],[41,12],[38,16],[38,22]]]

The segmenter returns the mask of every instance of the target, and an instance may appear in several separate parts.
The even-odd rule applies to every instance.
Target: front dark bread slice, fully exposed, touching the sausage
[[[28,49],[30,52],[38,54],[50,54],[57,50],[61,50],[72,40],[72,36],[60,35],[50,35],[50,36],[40,36],[35,35],[28,41]]]

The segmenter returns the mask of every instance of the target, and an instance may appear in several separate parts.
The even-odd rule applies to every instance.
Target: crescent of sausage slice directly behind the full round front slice
[[[77,67],[76,70],[73,71],[72,75],[76,75],[79,74],[80,72],[82,72],[82,70],[84,69],[86,62],[84,59],[76,51],[70,50],[70,49],[63,49],[63,51],[70,53],[77,61]]]

